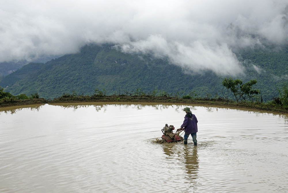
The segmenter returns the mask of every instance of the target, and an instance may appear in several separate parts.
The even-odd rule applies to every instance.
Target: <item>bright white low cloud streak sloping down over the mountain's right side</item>
[[[186,73],[212,70],[219,75],[236,75],[243,71],[236,55],[227,44],[208,45],[194,41],[189,45],[179,42],[167,42],[162,36],[150,36],[146,40],[121,46],[126,53],[153,54],[158,58],[168,59],[181,66]]]

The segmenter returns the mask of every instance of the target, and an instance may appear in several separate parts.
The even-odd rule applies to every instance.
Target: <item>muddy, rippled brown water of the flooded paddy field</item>
[[[0,192],[288,192],[287,116],[191,106],[198,146],[154,143],[184,107],[0,109]]]

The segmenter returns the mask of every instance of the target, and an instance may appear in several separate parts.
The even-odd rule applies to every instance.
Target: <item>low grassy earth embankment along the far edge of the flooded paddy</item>
[[[5,100],[0,101],[1,107],[19,106],[19,105],[34,105],[34,104],[52,104],[52,103],[79,103],[79,102],[134,102],[134,103],[174,103],[187,105],[204,105],[215,107],[228,107],[234,109],[248,109],[253,111],[265,111],[271,113],[288,114],[288,108],[281,107],[273,101],[269,103],[260,102],[235,102],[224,99],[183,99],[171,96],[127,96],[127,95],[113,95],[113,96],[73,96],[63,95],[54,100],[47,99],[23,99],[23,100]]]

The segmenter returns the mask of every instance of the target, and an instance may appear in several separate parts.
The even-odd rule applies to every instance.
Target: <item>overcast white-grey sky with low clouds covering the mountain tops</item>
[[[1,0],[0,63],[115,43],[186,71],[235,75],[238,48],[288,43],[288,0]]]

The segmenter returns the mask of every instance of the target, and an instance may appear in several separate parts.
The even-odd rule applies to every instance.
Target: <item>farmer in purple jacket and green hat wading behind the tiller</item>
[[[189,135],[191,134],[194,145],[197,145],[197,139],[196,139],[196,133],[198,132],[198,120],[194,114],[190,111],[190,107],[185,107],[183,111],[186,112],[186,115],[184,117],[183,124],[181,125],[181,128],[177,129],[177,131],[184,130],[184,144],[187,144],[187,139]]]

